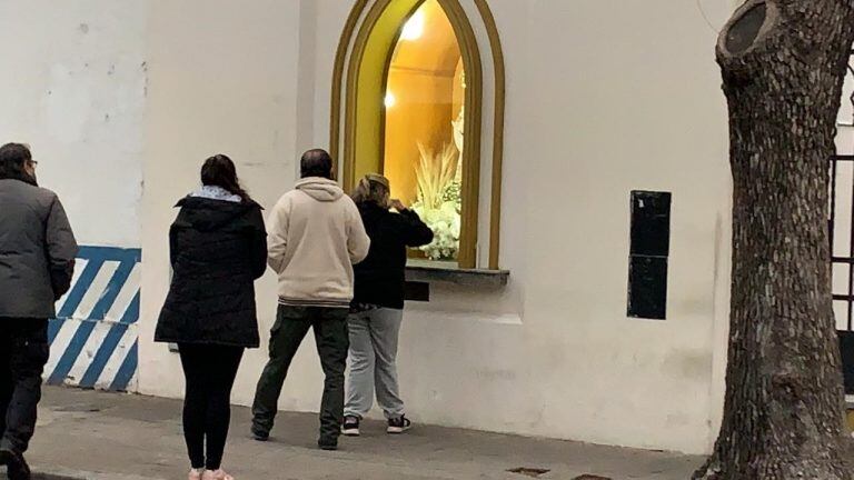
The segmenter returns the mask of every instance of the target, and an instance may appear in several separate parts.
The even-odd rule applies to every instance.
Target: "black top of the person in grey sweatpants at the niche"
[[[376,203],[359,204],[361,221],[370,237],[368,258],[354,266],[354,304],[404,308],[406,248],[433,241],[433,231],[411,210],[393,213]]]

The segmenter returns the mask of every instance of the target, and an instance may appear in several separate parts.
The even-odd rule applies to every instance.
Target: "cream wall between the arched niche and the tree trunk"
[[[502,267],[513,281],[503,293],[434,289],[429,306],[410,306],[400,369],[414,416],[711,447],[729,180],[707,21],[722,26],[728,3],[701,12],[693,2],[489,2],[507,61]],[[337,3],[322,4],[330,28],[340,24],[347,9],[332,16]],[[318,44],[318,64],[331,63],[334,48]],[[625,313],[634,189],[674,194],[666,322]]]

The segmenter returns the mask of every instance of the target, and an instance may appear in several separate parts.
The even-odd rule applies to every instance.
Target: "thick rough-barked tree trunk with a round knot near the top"
[[[733,284],[724,422],[695,479],[852,479],[831,297],[828,160],[854,0],[749,0],[717,59]]]

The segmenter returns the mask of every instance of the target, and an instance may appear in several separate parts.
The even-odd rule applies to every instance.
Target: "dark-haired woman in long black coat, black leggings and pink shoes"
[[[231,388],[244,349],[259,346],[254,281],[267,268],[267,233],[228,157],[209,158],[201,183],[178,202],[169,231],[173,277],[155,340],[178,343],[189,479],[228,480],[220,463]]]

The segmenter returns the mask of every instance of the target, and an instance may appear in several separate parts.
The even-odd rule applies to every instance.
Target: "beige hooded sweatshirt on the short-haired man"
[[[370,239],[356,204],[335,181],[297,182],[272,208],[267,233],[279,303],[349,307],[352,266],[365,260]]]

